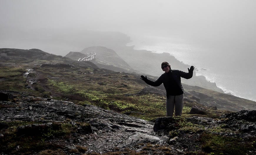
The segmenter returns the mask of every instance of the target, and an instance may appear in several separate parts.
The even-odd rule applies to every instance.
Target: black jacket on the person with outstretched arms
[[[145,80],[149,85],[157,87],[164,84],[167,97],[169,95],[181,95],[184,93],[184,89],[181,84],[181,78],[190,79],[193,76],[193,72],[186,73],[181,70],[170,70],[168,73],[163,73],[156,81]]]

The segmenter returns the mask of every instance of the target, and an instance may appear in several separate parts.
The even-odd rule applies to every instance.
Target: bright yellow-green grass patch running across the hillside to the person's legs
[[[120,91],[120,88],[118,88],[119,85],[116,85],[116,88],[113,88],[113,85],[98,85],[97,83],[90,83],[90,85],[85,86],[81,85],[80,83],[70,84],[67,81],[60,82],[59,80],[49,80],[48,84],[53,86],[57,91],[64,94],[68,95],[76,93],[84,97],[86,101],[84,101],[84,103],[79,102],[79,104],[91,104],[121,113],[134,112],[131,114],[132,116],[140,117],[146,120],[152,120],[157,117],[166,116],[166,98],[163,96],[157,96],[154,94],[125,95],[127,90],[124,92]],[[122,87],[125,87],[122,83],[120,85],[122,85]],[[120,91],[122,93],[109,94],[104,91],[107,88],[99,89],[100,87],[111,87],[111,90],[115,90],[115,92]],[[184,106],[183,113],[188,114],[190,109],[190,107]]]

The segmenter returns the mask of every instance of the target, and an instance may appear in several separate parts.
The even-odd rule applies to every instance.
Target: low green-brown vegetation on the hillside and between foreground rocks
[[[24,60],[25,61],[25,60]],[[24,62],[21,61],[21,62]],[[0,84],[1,90],[24,92],[31,96],[48,97],[57,100],[74,102],[78,105],[95,105],[115,112],[128,114],[145,120],[154,121],[157,117],[165,117],[165,95],[152,93],[138,94],[147,85],[140,80],[138,75],[119,73],[103,68],[79,67],[72,65],[46,65],[49,61],[37,60],[24,64],[1,65]],[[52,60],[51,62],[54,62]],[[4,62],[2,62],[4,64]],[[6,62],[7,64],[8,62]],[[56,62],[55,62],[56,63]],[[61,62],[59,62],[61,63]],[[37,65],[35,65],[37,64]],[[30,69],[30,73],[28,72]],[[26,74],[27,73],[27,74]],[[200,133],[202,151],[188,152],[191,155],[205,154],[245,154],[247,150],[256,147],[255,139],[244,141],[239,137],[225,137],[216,133],[232,133],[223,126],[206,129],[203,125],[189,122],[186,118],[192,116],[218,118],[224,112],[207,109],[205,115],[189,114],[196,102],[184,101],[183,116],[175,118],[175,129],[169,132],[169,137],[175,137],[180,133]],[[0,105],[0,108],[6,108]],[[46,141],[58,140],[74,133],[75,128],[69,122],[53,123],[50,128],[36,134],[20,134],[18,127],[34,124],[35,122],[4,122],[7,124],[7,135],[0,139],[1,150],[12,154],[31,154],[37,151],[40,155],[65,154],[61,145],[46,143]],[[36,122],[40,124],[42,122]],[[81,127],[88,124],[77,122]],[[19,145],[22,149],[17,151]],[[105,155],[114,154],[146,154],[144,150],[151,149],[153,152],[164,150],[165,154],[171,154],[170,148],[148,144],[137,153],[134,150],[123,152],[109,152]],[[77,146],[69,153],[85,153],[86,147]],[[94,153],[96,155],[96,153]]]

